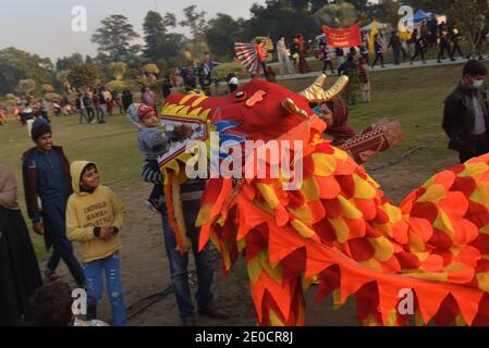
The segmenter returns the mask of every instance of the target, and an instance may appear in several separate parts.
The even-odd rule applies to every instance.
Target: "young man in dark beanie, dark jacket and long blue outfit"
[[[34,122],[32,138],[36,147],[24,153],[22,165],[27,212],[34,232],[45,236],[46,248],[54,249],[44,273],[51,277],[62,259],[76,284],[85,287],[82,266],[66,238],[66,202],[72,194],[70,162],[63,149],[52,145],[52,130],[45,120]]]

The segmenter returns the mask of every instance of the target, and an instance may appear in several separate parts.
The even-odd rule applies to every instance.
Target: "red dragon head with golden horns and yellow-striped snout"
[[[220,133],[268,141],[313,116],[309,103],[329,101],[349,82],[342,76],[330,89],[323,90],[326,78],[326,75],[319,76],[301,94],[262,79],[252,79],[228,97],[171,95],[163,105],[162,117],[167,122],[210,122]]]

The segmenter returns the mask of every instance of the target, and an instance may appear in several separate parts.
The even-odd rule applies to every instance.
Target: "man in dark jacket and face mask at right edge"
[[[469,61],[444,102],[442,126],[450,138],[449,149],[459,151],[462,163],[489,152],[488,103],[481,89],[486,75],[482,63]]]

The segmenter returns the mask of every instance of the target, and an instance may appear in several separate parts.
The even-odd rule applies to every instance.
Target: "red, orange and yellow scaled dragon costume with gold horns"
[[[260,325],[304,325],[304,291],[313,279],[318,300],[332,293],[341,304],[354,295],[366,325],[407,325],[409,318],[419,325],[489,324],[489,154],[436,174],[394,204],[346,152],[322,140],[326,124],[309,103],[347,84],[341,77],[323,90],[325,79],[301,94],[255,79],[224,98],[166,100],[167,122],[199,124],[201,140],[216,129],[239,144],[303,145],[298,189],[288,190],[291,178],[282,175],[208,179],[197,221],[200,247],[209,239],[217,246],[224,273],[244,256]],[[180,149],[161,161],[182,252],[178,188],[190,156]],[[267,161],[261,165],[269,169],[273,161]],[[399,310],[406,290],[413,313]]]

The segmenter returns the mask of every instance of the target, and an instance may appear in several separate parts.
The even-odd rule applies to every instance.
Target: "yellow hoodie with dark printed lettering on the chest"
[[[121,248],[119,234],[109,240],[95,236],[95,227],[117,227],[119,233],[125,215],[121,199],[107,186],[99,185],[93,194],[82,192],[82,172],[91,162],[76,161],[71,164],[73,191],[66,207],[66,235],[70,240],[82,243],[83,261],[105,259]]]

